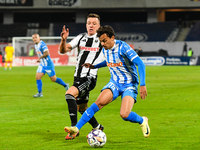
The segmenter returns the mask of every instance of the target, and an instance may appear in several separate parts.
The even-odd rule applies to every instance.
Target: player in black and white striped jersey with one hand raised
[[[68,104],[71,126],[77,123],[77,110],[83,114],[88,107],[89,92],[94,89],[97,81],[98,69],[89,69],[82,67],[85,62],[98,64],[103,61],[102,46],[97,37],[97,29],[100,27],[100,17],[97,14],[89,14],[87,16],[86,29],[87,33],[79,34],[71,42],[66,43],[69,36],[69,29],[63,26],[61,33],[61,42],[59,46],[60,53],[64,54],[74,48],[78,48],[78,56],[76,69],[74,73],[74,83],[65,93],[65,99]],[[95,129],[103,130],[103,126],[92,117],[89,123]],[[78,136],[76,134],[76,136]],[[65,139],[73,139],[73,135],[68,134]]]

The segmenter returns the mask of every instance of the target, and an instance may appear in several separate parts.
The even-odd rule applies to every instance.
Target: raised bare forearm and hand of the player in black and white
[[[65,25],[63,26],[62,32],[60,34],[61,36],[61,41],[59,45],[59,52],[61,54],[65,54],[66,52],[69,52],[72,50],[72,46],[67,42],[67,37],[69,36],[69,29],[65,29]]]

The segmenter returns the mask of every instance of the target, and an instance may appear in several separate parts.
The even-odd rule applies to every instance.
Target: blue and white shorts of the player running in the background
[[[47,73],[49,77],[53,77],[56,75],[54,66],[42,66],[39,65],[37,69],[37,73]]]

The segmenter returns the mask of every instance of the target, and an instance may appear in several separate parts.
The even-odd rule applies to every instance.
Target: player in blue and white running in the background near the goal
[[[45,75],[45,73],[48,74],[51,81],[62,85],[63,87],[65,87],[66,90],[68,90],[69,84],[66,84],[61,78],[56,77],[55,67],[54,67],[53,61],[51,60],[49,56],[49,50],[45,42],[40,40],[39,34],[33,34],[32,39],[33,39],[33,42],[35,43],[35,51],[39,57],[37,62],[40,63],[37,69],[37,73],[36,73],[36,83],[37,83],[38,93],[33,95],[33,97],[35,98],[43,97],[41,79],[43,75]]]

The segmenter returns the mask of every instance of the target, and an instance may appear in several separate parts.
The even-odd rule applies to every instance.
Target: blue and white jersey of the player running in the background
[[[41,40],[38,44],[35,44],[35,50],[38,57],[41,57],[45,51],[48,51],[47,45]],[[40,59],[40,66],[53,66],[53,61],[48,55],[45,58]]]

